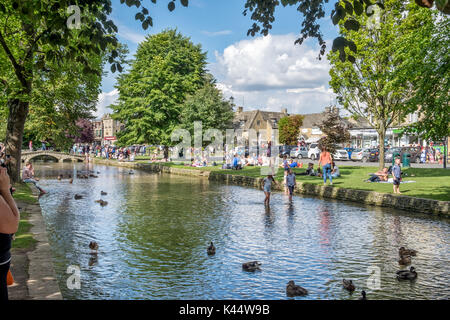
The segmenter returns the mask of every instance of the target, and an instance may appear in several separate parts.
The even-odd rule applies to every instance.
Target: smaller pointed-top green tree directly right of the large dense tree
[[[225,131],[231,128],[233,117],[232,104],[223,98],[212,75],[208,74],[203,87],[189,95],[181,106],[180,122],[181,127],[189,130],[193,138],[195,121],[202,122],[203,130]]]

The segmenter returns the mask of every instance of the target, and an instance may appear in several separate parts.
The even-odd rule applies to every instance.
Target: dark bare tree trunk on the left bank
[[[11,155],[8,174],[13,183],[20,181],[22,139],[28,107],[28,101],[20,101],[19,99],[8,101],[9,116],[6,129],[6,152]]]

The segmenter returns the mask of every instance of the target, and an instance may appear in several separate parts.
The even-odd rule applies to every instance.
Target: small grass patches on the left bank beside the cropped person
[[[33,197],[31,189],[26,184],[17,184],[14,186],[14,199],[18,207],[25,207],[27,204],[36,204],[37,200]],[[15,234],[15,240],[12,243],[13,249],[32,249],[36,240],[30,232],[32,224],[28,221],[30,214],[25,210],[20,210],[19,230]]]

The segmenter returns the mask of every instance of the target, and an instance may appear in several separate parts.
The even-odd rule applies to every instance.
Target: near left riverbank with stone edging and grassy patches
[[[14,199],[20,210],[19,230],[12,244],[11,272],[14,284],[8,287],[11,300],[61,300],[53,269],[41,208],[34,185],[19,184]]]

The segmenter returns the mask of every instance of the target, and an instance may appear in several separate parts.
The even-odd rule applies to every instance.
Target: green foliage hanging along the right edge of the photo
[[[405,106],[419,115],[405,132],[441,141],[450,136],[450,19],[428,14],[422,21],[426,19],[437,21],[422,22],[421,32],[410,33],[398,47],[402,68],[397,78],[414,88]]]

